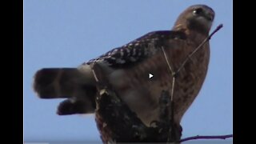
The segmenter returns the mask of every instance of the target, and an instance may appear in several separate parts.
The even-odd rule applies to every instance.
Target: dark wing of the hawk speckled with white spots
[[[86,62],[86,64],[106,62],[108,66],[113,68],[131,66],[154,55],[162,46],[165,46],[167,40],[175,38],[185,39],[186,35],[182,32],[170,30],[150,32],[124,46],[114,48],[106,54]]]

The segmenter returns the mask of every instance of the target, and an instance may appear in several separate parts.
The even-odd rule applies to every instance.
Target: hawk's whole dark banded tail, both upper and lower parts
[[[34,75],[39,98],[68,98],[58,106],[58,114],[86,114],[94,111],[96,86],[90,75],[76,68],[45,68]]]

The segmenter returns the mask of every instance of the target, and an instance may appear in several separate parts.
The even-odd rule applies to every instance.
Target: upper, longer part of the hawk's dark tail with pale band
[[[40,98],[70,98],[83,85],[85,76],[76,68],[45,68],[34,76],[34,90]]]

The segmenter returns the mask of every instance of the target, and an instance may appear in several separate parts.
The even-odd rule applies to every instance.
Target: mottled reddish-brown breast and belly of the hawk
[[[183,51],[183,52],[182,52]],[[178,69],[189,52],[167,50],[170,63]],[[181,53],[182,54],[179,54]],[[175,57],[177,56],[178,57]],[[174,86],[175,114],[180,121],[202,86],[209,61],[209,48],[202,50],[187,62],[178,74]],[[153,78],[149,78],[153,74]],[[158,99],[162,90],[171,90],[172,76],[161,51],[126,69],[114,70],[110,82],[124,102],[147,125],[158,119]]]

